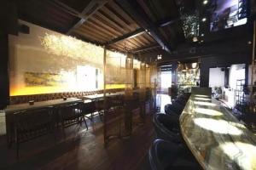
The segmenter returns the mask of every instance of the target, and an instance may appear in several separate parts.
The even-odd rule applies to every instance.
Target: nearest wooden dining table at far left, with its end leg
[[[7,105],[7,108],[4,110],[5,112],[5,120],[6,120],[6,136],[8,139],[8,143],[11,144],[13,141],[13,115],[16,112],[20,111],[29,111],[36,110],[40,108],[45,108],[49,106],[57,106],[57,105],[68,105],[76,102],[83,101],[82,99],[77,98],[67,98],[67,99],[52,99],[47,101],[39,101],[34,102],[33,105],[29,105],[29,103],[19,104],[19,105]]]

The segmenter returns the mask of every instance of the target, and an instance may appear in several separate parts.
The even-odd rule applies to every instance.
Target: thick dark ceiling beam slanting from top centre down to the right
[[[148,15],[145,14],[143,8],[134,0],[116,0],[119,6],[123,8],[131,18],[137,21],[137,23],[143,27],[144,30],[148,30],[150,35],[154,37],[154,40],[160,44],[167,52],[171,53],[171,44],[166,42],[165,38],[160,34],[157,26],[149,19]]]

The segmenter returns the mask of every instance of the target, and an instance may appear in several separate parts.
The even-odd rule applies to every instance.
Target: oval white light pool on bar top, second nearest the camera
[[[242,132],[235,126],[224,120],[214,120],[210,118],[195,118],[196,125],[212,131],[213,133],[240,135]]]

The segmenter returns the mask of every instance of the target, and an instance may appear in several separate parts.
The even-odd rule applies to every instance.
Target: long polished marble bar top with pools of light
[[[180,126],[204,169],[256,169],[255,136],[216,99],[191,94]]]

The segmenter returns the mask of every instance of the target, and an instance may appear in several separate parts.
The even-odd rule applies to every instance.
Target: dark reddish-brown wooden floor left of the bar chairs
[[[83,124],[65,132],[66,135],[60,131],[56,139],[47,135],[21,144],[19,161],[15,158],[15,146],[8,149],[4,139],[0,139],[0,169],[150,169],[148,149],[154,130],[149,115],[143,126],[134,128],[131,137],[112,139],[106,147],[102,122],[90,126],[88,131]]]

